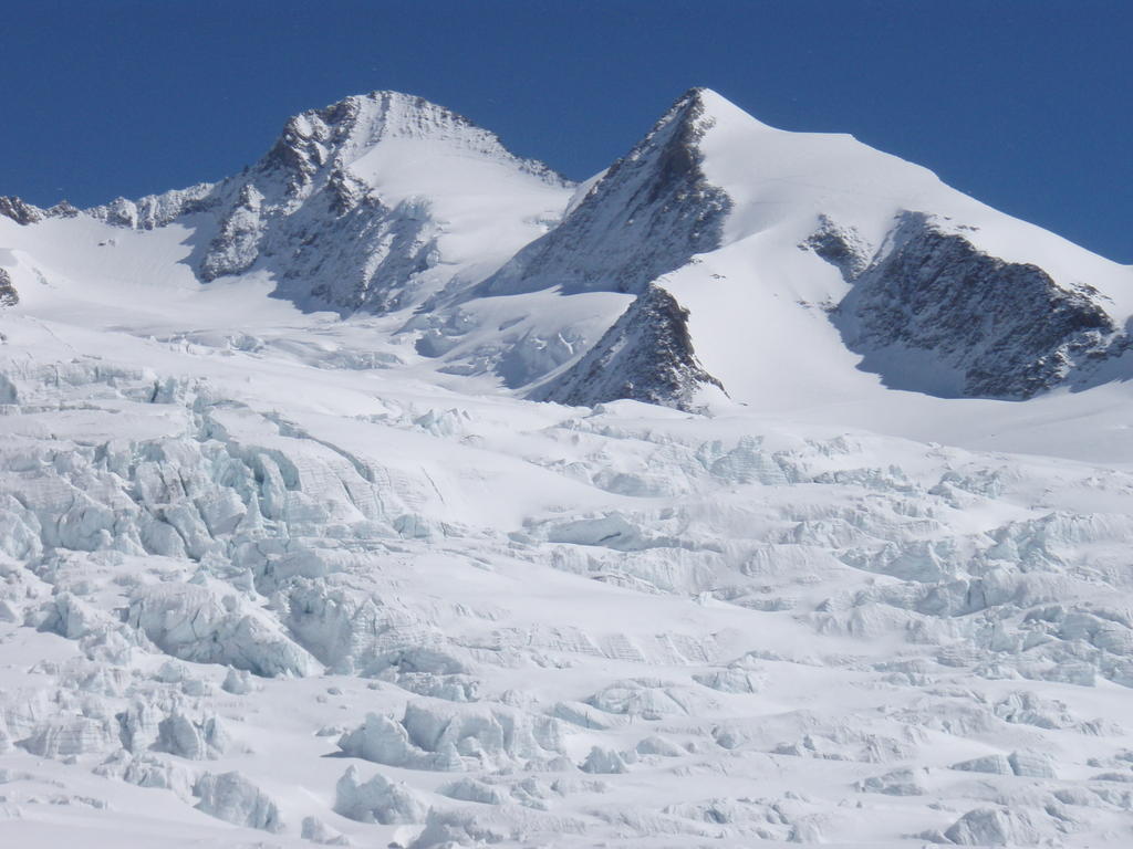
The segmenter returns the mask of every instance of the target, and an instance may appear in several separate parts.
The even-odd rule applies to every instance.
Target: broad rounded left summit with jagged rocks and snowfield
[[[493,269],[570,188],[443,106],[373,92],[290,119],[242,174],[90,213],[144,229],[193,216],[202,280],[257,268],[305,308],[384,312]]]

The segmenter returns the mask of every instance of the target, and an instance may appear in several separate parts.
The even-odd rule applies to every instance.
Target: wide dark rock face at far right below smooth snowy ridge
[[[824,222],[810,247],[853,284],[833,316],[846,345],[894,388],[1028,398],[1128,348],[1089,286],[985,254],[921,213],[889,239],[863,263],[853,234]],[[908,371],[909,352],[928,366]]]

